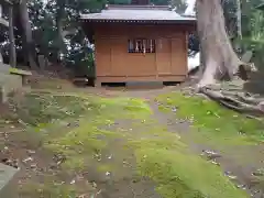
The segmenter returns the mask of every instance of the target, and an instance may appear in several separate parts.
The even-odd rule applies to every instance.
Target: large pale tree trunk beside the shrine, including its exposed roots
[[[264,98],[257,99],[244,94],[243,81],[216,84],[217,80],[232,80],[237,73],[244,80],[248,79],[246,73],[253,72],[250,64],[244,64],[239,59],[231,46],[220,2],[220,0],[197,0],[198,34],[202,52],[202,67],[205,67],[198,84],[199,92],[238,112],[253,116],[253,118],[263,116]]]

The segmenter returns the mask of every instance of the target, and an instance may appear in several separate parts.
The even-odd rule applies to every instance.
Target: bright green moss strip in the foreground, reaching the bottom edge
[[[151,123],[155,128],[139,132],[140,136],[134,134],[130,144],[135,150],[139,174],[156,182],[156,190],[162,197],[248,197],[223,175],[220,167],[190,153],[177,134]]]

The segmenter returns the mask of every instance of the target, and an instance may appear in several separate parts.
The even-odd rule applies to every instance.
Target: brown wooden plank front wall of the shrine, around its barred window
[[[95,30],[96,75],[102,81],[177,81],[187,75],[184,26],[98,24]],[[136,37],[156,40],[156,53],[128,53],[128,40]]]

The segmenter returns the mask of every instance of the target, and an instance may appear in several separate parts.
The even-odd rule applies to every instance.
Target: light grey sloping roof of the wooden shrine
[[[196,21],[196,18],[183,16],[168,7],[156,6],[110,6],[100,13],[81,14],[88,21]]]

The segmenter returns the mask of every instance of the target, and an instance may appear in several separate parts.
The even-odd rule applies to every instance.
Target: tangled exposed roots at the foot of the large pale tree
[[[196,92],[202,94],[221,106],[245,113],[251,118],[263,117],[264,98],[257,98],[243,90],[244,80],[249,80],[250,74],[256,70],[253,63],[240,62],[238,73],[234,74],[239,79],[205,86],[198,84]]]

